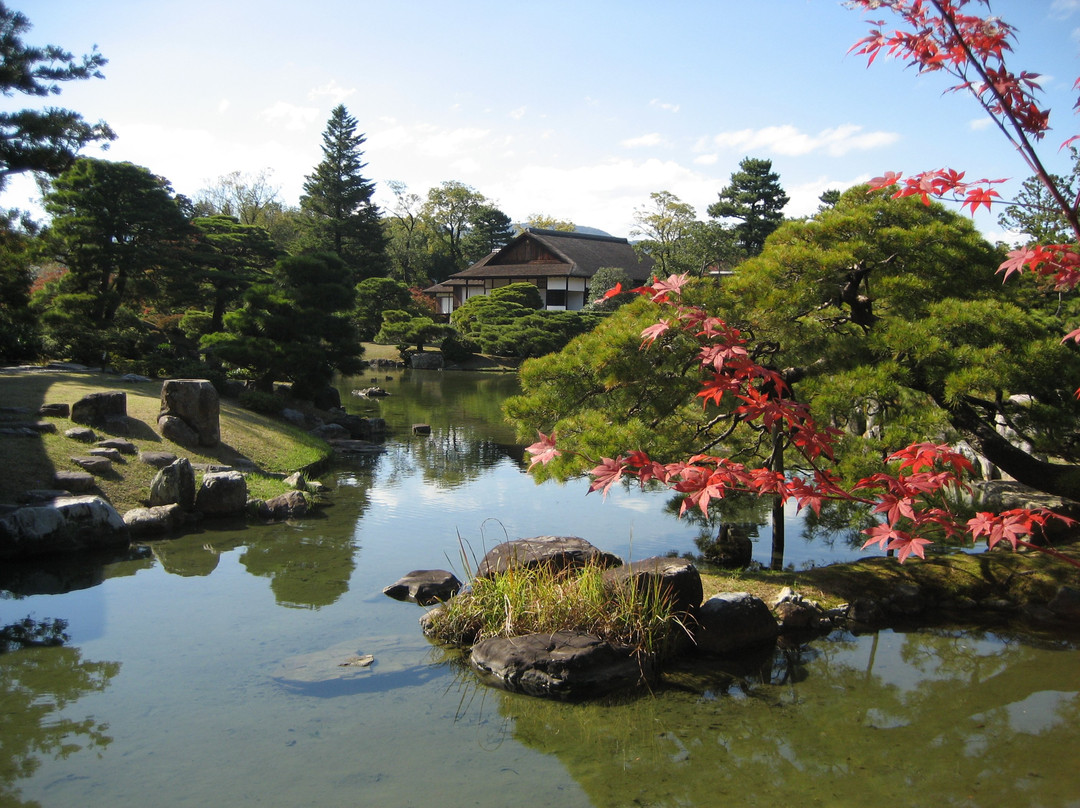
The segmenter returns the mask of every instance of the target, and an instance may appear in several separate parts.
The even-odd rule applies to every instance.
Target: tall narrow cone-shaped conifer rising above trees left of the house
[[[323,160],[303,184],[300,210],[310,225],[306,252],[330,252],[360,278],[386,274],[386,240],[375,183],[362,172],[365,137],[343,105],[330,112],[323,132]]]

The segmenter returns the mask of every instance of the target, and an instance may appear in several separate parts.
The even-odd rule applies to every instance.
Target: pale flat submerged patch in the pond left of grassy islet
[[[376,637],[288,657],[270,676],[305,696],[332,698],[422,685],[438,673],[429,663],[428,648],[397,637]]]

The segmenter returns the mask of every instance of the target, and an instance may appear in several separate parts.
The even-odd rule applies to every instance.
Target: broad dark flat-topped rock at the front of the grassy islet
[[[631,648],[573,631],[489,637],[473,646],[469,662],[488,684],[566,701],[636,685],[643,678]]]

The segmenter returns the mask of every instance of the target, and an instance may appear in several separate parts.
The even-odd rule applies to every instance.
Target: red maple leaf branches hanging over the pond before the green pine
[[[861,480],[846,489],[825,466],[832,460],[837,431],[816,425],[809,408],[788,396],[787,386],[773,371],[747,359],[745,340],[738,329],[696,306],[679,302],[685,275],[672,275],[648,286],[633,289],[666,307],[666,329],[678,328],[693,337],[701,350],[698,360],[703,382],[699,393],[705,402],[719,405],[725,399],[734,404],[735,416],[747,427],[769,431],[783,430],[789,444],[801,455],[802,471],[785,475],[768,468],[752,468],[725,457],[694,455],[686,460],[660,463],[640,450],[616,458],[602,458],[590,472],[590,491],[607,494],[625,477],[636,477],[642,485],[657,481],[684,495],[680,513],[698,508],[708,514],[714,499],[731,493],[775,496],[786,502],[795,499],[799,509],[820,512],[828,500],[850,500],[873,506],[881,523],[865,533],[864,547],[878,544],[894,550],[901,562],[908,555],[924,557],[924,548],[937,537],[985,536],[990,547],[1004,540],[1013,549],[1034,548],[1057,555],[1080,566],[1067,556],[1047,548],[1035,548],[1025,537],[1052,519],[1071,524],[1071,520],[1043,509],[1012,510],[995,514],[978,513],[963,520],[949,508],[949,495],[968,489],[964,477],[971,463],[949,447],[932,443],[908,446],[888,458],[895,463],[891,472]],[[653,342],[654,326],[643,334],[642,350]],[[539,440],[526,448],[536,463],[548,463],[561,454],[554,434],[539,433]]]

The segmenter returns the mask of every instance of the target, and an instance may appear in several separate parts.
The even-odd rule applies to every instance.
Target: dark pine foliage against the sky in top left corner
[[[0,3],[0,93],[46,97],[60,82],[100,79],[107,63],[96,49],[82,59],[56,45],[28,45],[25,14]],[[0,190],[8,177],[23,172],[57,175],[91,143],[116,139],[104,122],[87,123],[77,112],[58,107],[0,112]]]

